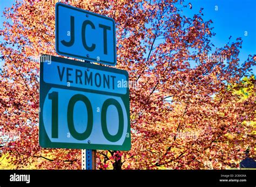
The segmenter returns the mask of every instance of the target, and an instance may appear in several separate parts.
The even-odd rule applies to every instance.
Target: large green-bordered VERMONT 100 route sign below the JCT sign
[[[41,56],[39,144],[130,150],[128,81],[124,70]]]

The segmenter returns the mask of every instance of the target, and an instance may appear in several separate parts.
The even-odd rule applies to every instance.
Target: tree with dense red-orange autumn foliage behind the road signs
[[[247,135],[253,127],[244,123],[254,120],[254,93],[241,100],[231,85],[250,74],[256,57],[239,61],[240,38],[215,48],[212,21],[203,19],[203,9],[192,18],[181,15],[183,2],[69,1],[116,21],[116,68],[127,70],[135,83],[132,148],[98,150],[99,169],[223,169],[238,167],[245,150],[255,155],[253,136]],[[57,55],[55,3],[16,1],[4,16],[11,21],[0,30],[0,124],[2,132],[18,136],[0,139],[2,154],[16,168],[39,161],[37,168],[80,169],[80,150],[38,144],[38,57]]]

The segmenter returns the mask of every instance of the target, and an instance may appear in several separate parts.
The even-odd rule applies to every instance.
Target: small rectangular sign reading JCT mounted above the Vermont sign
[[[116,65],[114,20],[56,4],[56,51],[60,55]]]

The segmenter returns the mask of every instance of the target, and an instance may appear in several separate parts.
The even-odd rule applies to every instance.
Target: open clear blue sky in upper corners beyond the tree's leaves
[[[14,0],[0,1],[0,15],[3,15],[5,7],[10,7]],[[232,35],[232,40],[241,37],[242,49],[240,49],[240,61],[247,59],[248,54],[256,54],[256,1],[255,0],[185,0],[184,4],[192,4],[192,9],[184,9],[183,14],[187,17],[193,17],[200,8],[204,8],[204,20],[212,19],[214,32],[216,35],[212,38],[215,47],[222,47],[228,42]],[[218,10],[215,10],[218,6]],[[0,27],[5,21],[0,17]],[[247,36],[245,36],[247,31]],[[0,38],[0,41],[2,39]],[[256,67],[253,67],[253,73],[256,73]]]

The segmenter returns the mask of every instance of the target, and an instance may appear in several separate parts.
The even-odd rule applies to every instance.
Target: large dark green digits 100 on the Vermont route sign
[[[58,138],[58,119],[59,119],[58,118],[58,92],[53,91],[49,93],[48,98],[52,100],[51,136],[52,138]],[[86,126],[86,130],[83,133],[79,133],[76,131],[76,128],[73,122],[74,106],[78,101],[82,101],[85,104],[87,109],[87,126]],[[118,124],[118,131],[115,135],[111,135],[107,130],[106,113],[107,113],[107,108],[110,105],[114,105],[118,111],[119,124]],[[100,113],[101,127],[102,127],[102,132],[105,138],[111,142],[118,141],[120,138],[122,138],[122,134],[124,131],[124,115],[123,115],[122,106],[116,99],[109,98],[109,99],[106,99],[105,102],[103,103],[101,111],[102,111]],[[68,128],[69,128],[70,134],[73,136],[73,138],[77,140],[85,140],[89,138],[89,136],[91,135],[92,126],[93,126],[93,110],[92,110],[91,102],[86,96],[82,94],[76,94],[71,97],[68,104],[67,121],[68,121]]]

